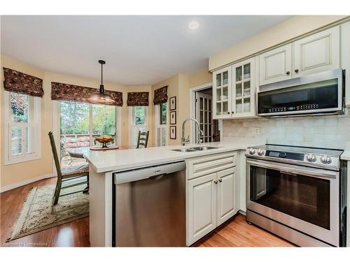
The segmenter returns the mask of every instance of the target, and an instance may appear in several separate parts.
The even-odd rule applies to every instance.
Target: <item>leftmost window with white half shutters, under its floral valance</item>
[[[5,164],[41,157],[40,98],[5,92]]]

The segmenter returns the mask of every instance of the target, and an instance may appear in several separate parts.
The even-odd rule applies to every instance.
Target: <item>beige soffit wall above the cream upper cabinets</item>
[[[346,17],[349,16],[297,15],[209,57],[209,71],[343,20]]]

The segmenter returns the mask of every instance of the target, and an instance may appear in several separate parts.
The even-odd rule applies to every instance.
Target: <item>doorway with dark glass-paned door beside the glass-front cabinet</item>
[[[221,140],[221,123],[220,120],[213,119],[213,103],[212,103],[212,88],[211,84],[206,87],[197,87],[191,89],[191,117],[200,122],[200,129],[203,131],[203,136],[200,136],[203,143],[220,142]],[[197,126],[191,126],[191,134],[195,138]],[[192,143],[195,142],[193,139]]]

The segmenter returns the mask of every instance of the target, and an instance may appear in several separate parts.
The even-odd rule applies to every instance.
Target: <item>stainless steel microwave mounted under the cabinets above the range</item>
[[[260,117],[343,112],[341,68],[261,85],[257,92]]]

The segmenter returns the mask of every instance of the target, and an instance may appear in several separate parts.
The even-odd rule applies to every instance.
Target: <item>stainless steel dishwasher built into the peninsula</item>
[[[117,247],[186,246],[184,161],[114,173]]]

